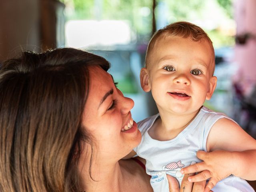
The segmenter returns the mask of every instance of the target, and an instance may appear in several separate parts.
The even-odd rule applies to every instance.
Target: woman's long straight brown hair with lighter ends
[[[1,192],[80,191],[74,154],[91,142],[81,119],[92,65],[109,68],[104,58],[72,48],[26,51],[2,63]]]

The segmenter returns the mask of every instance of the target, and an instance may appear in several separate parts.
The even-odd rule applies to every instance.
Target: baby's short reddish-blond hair
[[[206,32],[204,32],[204,30],[202,28],[200,28],[199,26],[196,26],[195,24],[192,24],[190,22],[181,21],[181,22],[175,22],[170,25],[167,25],[164,28],[162,28],[154,33],[154,35],[152,36],[152,38],[148,44],[148,48],[147,48],[147,52],[146,52],[146,60],[145,60],[146,67],[150,63],[150,58],[154,52],[154,46],[156,45],[156,42],[158,40],[160,40],[160,38],[164,38],[166,36],[177,36],[177,37],[181,37],[181,38],[190,38],[191,40],[196,41],[196,42],[201,41],[201,40],[206,40],[206,42],[208,42],[208,44],[212,50],[213,66],[215,66],[214,48],[212,46],[212,41],[210,40],[210,38],[208,37]],[[213,71],[214,71],[214,68],[213,68]],[[213,72],[212,72],[212,74],[213,74]]]

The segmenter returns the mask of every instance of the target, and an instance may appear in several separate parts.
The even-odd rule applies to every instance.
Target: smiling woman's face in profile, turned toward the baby
[[[89,71],[90,89],[82,123],[92,136],[96,155],[103,160],[117,161],[141,140],[130,112],[134,102],[124,97],[112,76],[102,68],[92,66]]]

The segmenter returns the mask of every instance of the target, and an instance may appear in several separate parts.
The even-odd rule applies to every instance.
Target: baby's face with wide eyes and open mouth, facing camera
[[[158,110],[196,112],[215,89],[213,54],[206,41],[167,36],[156,43],[147,66]]]

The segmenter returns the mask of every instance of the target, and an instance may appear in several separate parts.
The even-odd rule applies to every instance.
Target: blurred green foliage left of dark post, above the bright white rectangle
[[[74,12],[67,14],[70,19],[108,19],[128,20],[138,34],[151,31],[152,1],[151,0],[61,0]],[[143,16],[141,9],[148,8],[149,14]],[[100,11],[100,16],[96,15]]]

